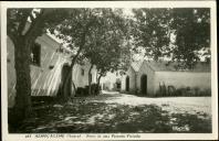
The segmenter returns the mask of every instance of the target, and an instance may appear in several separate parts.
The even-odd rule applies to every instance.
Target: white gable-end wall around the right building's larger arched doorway
[[[137,89],[140,91],[140,77],[143,75],[147,75],[147,95],[154,94],[154,76],[155,72],[147,65],[146,62],[143,62],[143,65],[139,68],[139,72],[137,73]]]

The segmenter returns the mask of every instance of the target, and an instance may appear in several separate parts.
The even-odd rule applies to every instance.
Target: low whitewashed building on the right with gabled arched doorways
[[[198,63],[194,69],[178,70],[176,63],[144,61],[134,67],[133,63],[122,79],[122,90],[147,96],[159,95],[160,88],[211,88],[210,65]],[[135,69],[138,68],[138,69]]]

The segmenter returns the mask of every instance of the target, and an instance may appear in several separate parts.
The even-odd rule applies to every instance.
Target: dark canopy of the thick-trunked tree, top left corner
[[[18,36],[34,40],[45,33],[48,28],[63,21],[66,15],[65,9],[8,9],[7,34],[13,42]]]

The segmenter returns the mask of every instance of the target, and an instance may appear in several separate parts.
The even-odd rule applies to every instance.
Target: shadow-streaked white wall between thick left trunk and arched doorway
[[[56,52],[60,44],[45,34],[35,42],[41,45],[41,66],[31,65],[31,95],[54,96],[61,82],[62,65],[69,62],[67,56]],[[54,67],[50,69],[50,66]]]

